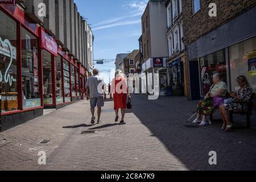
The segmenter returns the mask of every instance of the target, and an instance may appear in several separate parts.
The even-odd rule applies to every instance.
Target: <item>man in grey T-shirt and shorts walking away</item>
[[[106,93],[104,88],[104,79],[98,76],[98,69],[93,69],[93,76],[88,78],[86,82],[86,99],[90,100],[90,111],[92,112],[92,121],[95,123],[94,109],[97,106],[98,122],[101,123],[101,107],[104,107]]]

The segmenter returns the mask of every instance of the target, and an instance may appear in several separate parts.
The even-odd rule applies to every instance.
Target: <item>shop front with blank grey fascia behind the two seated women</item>
[[[222,73],[229,92],[239,89],[236,79],[240,75],[256,92],[255,19],[248,17],[256,17],[256,7],[188,45],[191,95],[195,100],[209,92],[214,73]]]

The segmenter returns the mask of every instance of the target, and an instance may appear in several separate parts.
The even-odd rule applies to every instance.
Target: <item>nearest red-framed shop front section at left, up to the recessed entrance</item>
[[[43,114],[39,27],[14,5],[0,5],[0,130]]]

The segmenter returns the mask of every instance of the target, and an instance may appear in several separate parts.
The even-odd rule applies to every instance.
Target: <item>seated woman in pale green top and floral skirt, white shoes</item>
[[[197,104],[197,117],[193,123],[200,123],[199,126],[208,125],[206,116],[212,115],[214,108],[222,105],[226,97],[228,86],[222,81],[222,75],[220,73],[213,75],[213,82],[214,84],[207,93],[207,96]],[[203,115],[202,121],[200,121],[201,115]]]

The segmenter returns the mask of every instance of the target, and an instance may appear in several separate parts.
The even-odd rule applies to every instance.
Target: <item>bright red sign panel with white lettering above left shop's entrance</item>
[[[46,49],[48,52],[52,53],[53,55],[58,55],[58,49],[57,49],[57,42],[56,40],[51,36],[48,35],[43,28],[41,29],[41,35],[42,35],[42,48]]]

